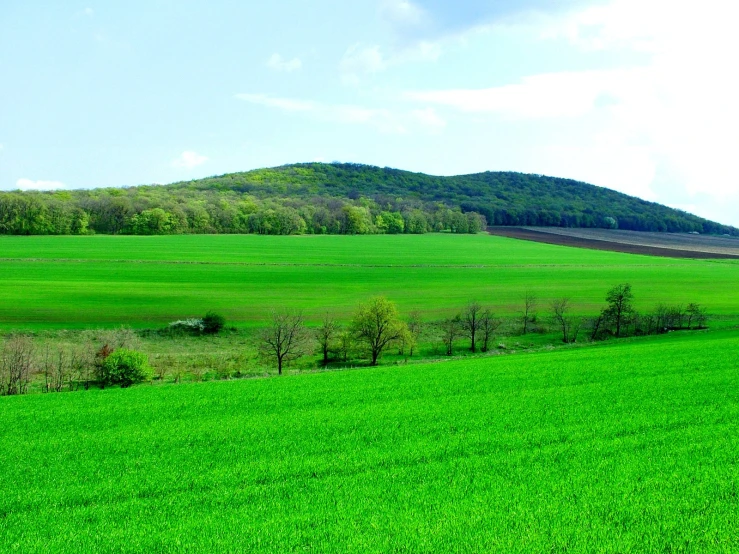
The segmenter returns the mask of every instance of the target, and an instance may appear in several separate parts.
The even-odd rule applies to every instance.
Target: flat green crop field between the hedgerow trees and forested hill
[[[637,308],[699,302],[739,319],[739,261],[599,252],[489,235],[0,237],[0,327],[166,324],[207,310],[259,325],[271,309],[348,318],[383,294],[403,312],[471,299],[514,313],[525,291],[597,312],[630,282]]]

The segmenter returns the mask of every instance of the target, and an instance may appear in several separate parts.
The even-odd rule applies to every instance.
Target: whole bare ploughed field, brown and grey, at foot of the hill
[[[668,258],[739,259],[739,238],[560,227],[489,227],[493,235]]]

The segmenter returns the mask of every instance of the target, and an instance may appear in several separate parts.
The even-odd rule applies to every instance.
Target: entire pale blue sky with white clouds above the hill
[[[520,171],[739,226],[726,0],[2,0],[0,189]]]

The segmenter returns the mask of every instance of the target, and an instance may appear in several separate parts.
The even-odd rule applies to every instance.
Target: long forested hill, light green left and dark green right
[[[166,186],[0,193],[0,233],[424,233],[485,225],[739,236],[739,229],[586,183],[511,172],[436,177],[298,164]]]

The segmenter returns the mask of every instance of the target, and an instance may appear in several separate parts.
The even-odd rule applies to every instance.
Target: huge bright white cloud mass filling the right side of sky
[[[517,22],[543,44],[564,41],[629,61],[615,69],[535,74],[498,87],[405,97],[442,116],[453,110],[471,120],[518,121],[530,126],[538,143],[549,132],[549,146],[531,153],[527,171],[696,206],[705,217],[724,214],[719,220],[737,224],[725,209],[739,198],[739,80],[730,69],[739,51],[736,15],[739,8],[719,0],[700,9],[666,0],[613,0]]]

